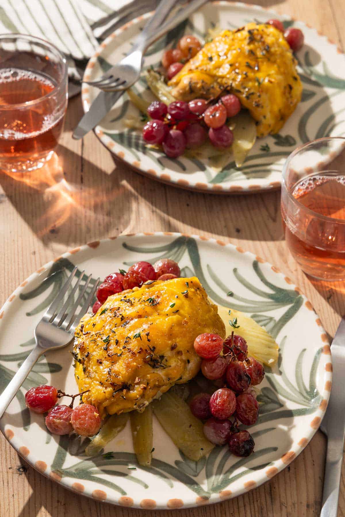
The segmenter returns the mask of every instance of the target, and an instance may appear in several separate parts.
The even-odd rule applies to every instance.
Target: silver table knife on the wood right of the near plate
[[[332,393],[321,430],[327,435],[327,453],[320,517],[337,517],[341,464],[345,437],[345,316],[341,318],[331,345]]]

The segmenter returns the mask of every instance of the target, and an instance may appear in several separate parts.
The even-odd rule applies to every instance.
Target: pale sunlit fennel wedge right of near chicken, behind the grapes
[[[230,315],[229,310],[231,310]],[[274,366],[278,360],[279,347],[264,327],[261,327],[243,312],[235,309],[218,306],[218,314],[225,323],[227,336],[230,336],[232,331],[242,336],[247,341],[248,355],[253,356],[266,366]],[[236,325],[238,325],[238,328],[235,329],[229,324],[229,320],[233,321],[234,318],[237,318]]]

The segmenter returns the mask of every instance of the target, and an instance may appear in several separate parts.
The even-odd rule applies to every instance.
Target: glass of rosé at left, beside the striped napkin
[[[52,156],[67,107],[67,63],[33,36],[0,35],[0,170],[27,172]]]

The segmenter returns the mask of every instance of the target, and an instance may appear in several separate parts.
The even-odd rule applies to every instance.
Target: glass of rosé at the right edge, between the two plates
[[[282,173],[281,215],[288,248],[308,275],[345,279],[345,138],[298,147]]]

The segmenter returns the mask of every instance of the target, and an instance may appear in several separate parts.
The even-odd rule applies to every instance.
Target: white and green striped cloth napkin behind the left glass
[[[68,58],[69,95],[100,41],[158,0],[1,0],[0,33],[31,34],[53,43]]]

